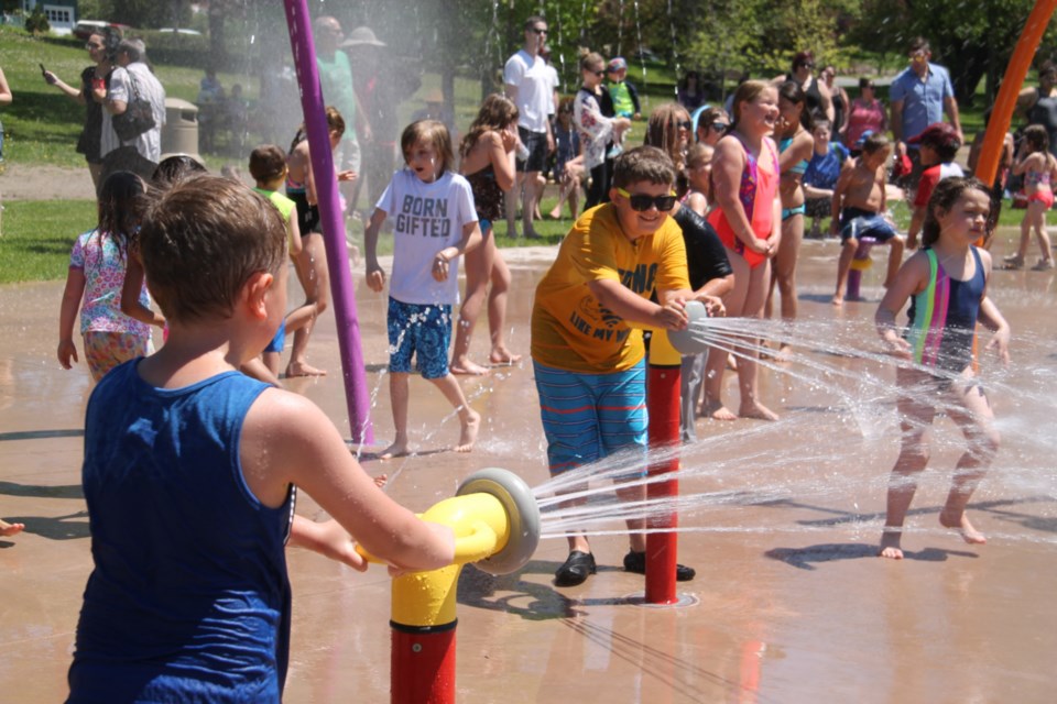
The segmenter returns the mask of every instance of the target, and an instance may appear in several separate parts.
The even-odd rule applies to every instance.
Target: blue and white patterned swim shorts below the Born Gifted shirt
[[[451,306],[405,304],[389,298],[389,371],[411,373],[411,358],[423,378],[448,375]]]

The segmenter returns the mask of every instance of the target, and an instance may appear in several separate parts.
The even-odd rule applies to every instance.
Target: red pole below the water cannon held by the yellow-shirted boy
[[[662,340],[658,340],[661,338]],[[658,344],[660,343],[660,344]],[[667,474],[672,479],[647,485],[646,496],[651,499],[675,497],[679,495],[679,482],[675,472],[679,469],[679,457],[675,451],[679,444],[679,363],[678,353],[675,354],[675,364],[658,364],[654,360],[669,355],[654,354],[653,348],[663,346],[671,350],[671,343],[664,333],[654,333],[651,341],[650,367],[646,393],[646,408],[650,414],[649,441],[650,449],[657,450],[664,457],[662,461],[650,463],[650,476]],[[672,350],[674,352],[674,350]],[[676,528],[678,515],[673,510],[663,516],[651,519],[649,527]],[[678,597],[675,593],[675,569],[678,557],[675,532],[651,532],[646,535],[646,603],[675,604]]]

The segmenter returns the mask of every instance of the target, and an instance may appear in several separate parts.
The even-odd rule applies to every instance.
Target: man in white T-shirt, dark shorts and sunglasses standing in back
[[[521,221],[526,238],[540,235],[532,227],[536,209],[534,184],[543,170],[547,155],[554,151],[554,135],[547,116],[554,113],[554,87],[547,64],[540,56],[547,40],[547,21],[533,15],[525,20],[525,44],[510,57],[503,68],[506,97],[517,106],[517,133],[525,150],[517,158],[517,178],[506,199],[506,232],[517,237],[514,216],[517,195],[523,193]],[[521,158],[521,157],[524,158]]]

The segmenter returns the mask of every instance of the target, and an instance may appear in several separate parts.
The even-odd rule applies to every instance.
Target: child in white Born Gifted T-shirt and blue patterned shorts
[[[481,243],[470,184],[451,169],[455,154],[443,122],[413,122],[400,138],[407,164],[393,174],[363,233],[367,285],[381,293],[385,272],[378,263],[378,233],[393,216],[393,276],[389,288],[389,392],[396,437],[382,451],[388,459],[407,453],[411,358],[459,415],[462,430],[456,452],[473,449],[480,415],[470,408],[448,369],[451,306],[459,298],[459,255]]]

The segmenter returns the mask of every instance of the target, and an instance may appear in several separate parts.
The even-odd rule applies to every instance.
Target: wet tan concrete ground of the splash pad
[[[805,243],[800,317],[869,324],[880,299],[876,265],[868,301],[829,304],[838,245]],[[1009,252],[1000,242],[996,256]],[[511,346],[527,352],[533,287],[553,256],[536,249],[512,262]],[[356,272],[379,444],[392,437],[384,367],[384,307]],[[296,285],[295,285],[296,286]],[[629,600],[642,578],[626,574],[622,536],[592,540],[599,573],[557,590],[564,540],[545,540],[519,573],[491,578],[473,568],[459,585],[460,702],[1051,702],[1057,685],[1057,491],[1051,411],[1057,358],[1054,274],[996,272],[992,293],[1013,324],[1010,372],[994,395],[1005,443],[970,506],[987,546],[940,529],[937,515],[960,451],[946,420],[928,479],[912,507],[907,559],[875,558],[884,491],[896,454],[891,398],[860,409],[874,426],[849,424],[848,399],[831,386],[763,371],[764,402],[783,421],[699,420],[684,452],[686,492],[743,491],[745,501],[702,506],[683,517],[682,562],[697,568],[684,608],[644,608]],[[74,628],[91,560],[79,487],[87,371],[58,367],[55,327],[62,284],[0,288],[0,517],[25,522],[0,539],[0,700],[55,702],[66,694]],[[292,295],[292,301],[296,297]],[[1021,343],[1020,336],[1031,342]],[[1024,340],[1027,340],[1025,337]],[[483,359],[487,334],[475,341]],[[1031,359],[1024,353],[1032,355]],[[858,362],[816,353],[854,367]],[[1021,356],[1017,356],[1018,353]],[[330,370],[290,387],[318,403],[348,433],[331,316],[313,340],[312,361]],[[728,396],[737,403],[734,380]],[[854,384],[844,384],[851,397]],[[390,492],[423,510],[462,477],[503,466],[530,486],[547,479],[528,363],[464,380],[484,416],[476,451],[445,451],[458,436],[439,394],[412,387],[417,457],[369,461]],[[1050,400],[1033,400],[1045,399]],[[1034,436],[1034,439],[1032,439]],[[940,439],[946,438],[946,441]],[[745,459],[751,458],[751,459]],[[771,497],[760,501],[760,497]],[[303,497],[298,510],[318,517]],[[290,553],[294,586],[288,702],[383,702],[389,691],[389,579],[360,574],[318,556]]]

